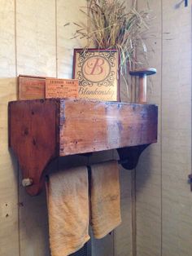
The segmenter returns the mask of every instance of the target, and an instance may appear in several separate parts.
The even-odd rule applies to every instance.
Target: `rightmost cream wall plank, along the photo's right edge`
[[[163,0],[163,24],[163,255],[190,256],[191,2]]]

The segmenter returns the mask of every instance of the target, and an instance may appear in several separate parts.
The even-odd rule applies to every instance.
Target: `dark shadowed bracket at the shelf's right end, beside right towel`
[[[139,145],[134,147],[117,148],[117,152],[120,156],[120,165],[124,169],[132,170],[137,166],[139,157],[143,150],[145,150],[150,144]]]

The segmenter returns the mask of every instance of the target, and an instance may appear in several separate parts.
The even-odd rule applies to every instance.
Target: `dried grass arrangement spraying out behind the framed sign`
[[[127,71],[127,65],[137,64],[134,57],[136,48],[147,55],[143,35],[149,29],[151,10],[136,10],[137,0],[127,11],[122,0],[87,0],[87,7],[81,7],[87,24],[78,27],[73,38],[86,38],[85,48],[94,46],[104,49],[118,49],[120,52],[120,70]]]

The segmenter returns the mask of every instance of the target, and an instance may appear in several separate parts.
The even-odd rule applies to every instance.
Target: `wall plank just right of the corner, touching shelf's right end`
[[[146,148],[136,170],[137,256],[161,255],[161,1],[149,5],[155,20],[146,34],[148,62],[157,74],[147,79],[147,102],[158,105],[159,126],[158,143]],[[146,1],[138,1],[144,8]]]

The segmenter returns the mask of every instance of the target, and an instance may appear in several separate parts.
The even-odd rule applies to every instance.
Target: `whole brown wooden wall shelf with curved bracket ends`
[[[155,105],[34,99],[12,101],[8,108],[9,146],[33,196],[55,157],[117,148],[122,166],[133,169],[142,151],[157,141]]]

